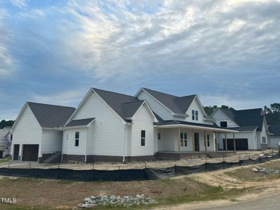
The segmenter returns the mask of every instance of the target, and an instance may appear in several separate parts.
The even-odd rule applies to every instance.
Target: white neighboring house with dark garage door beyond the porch
[[[269,148],[269,130],[262,109],[245,109],[230,111],[217,108],[211,115],[216,125],[237,130],[235,142],[237,151],[264,150]],[[225,139],[227,139],[225,141]],[[220,149],[225,145],[233,146],[233,136],[222,135],[218,137]]]

